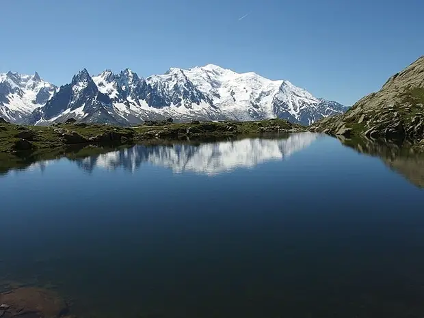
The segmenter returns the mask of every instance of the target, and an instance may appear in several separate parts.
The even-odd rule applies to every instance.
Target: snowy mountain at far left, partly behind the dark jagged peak
[[[37,72],[34,75],[0,74],[0,116],[10,122],[25,122],[56,90],[55,85],[42,80]]]

